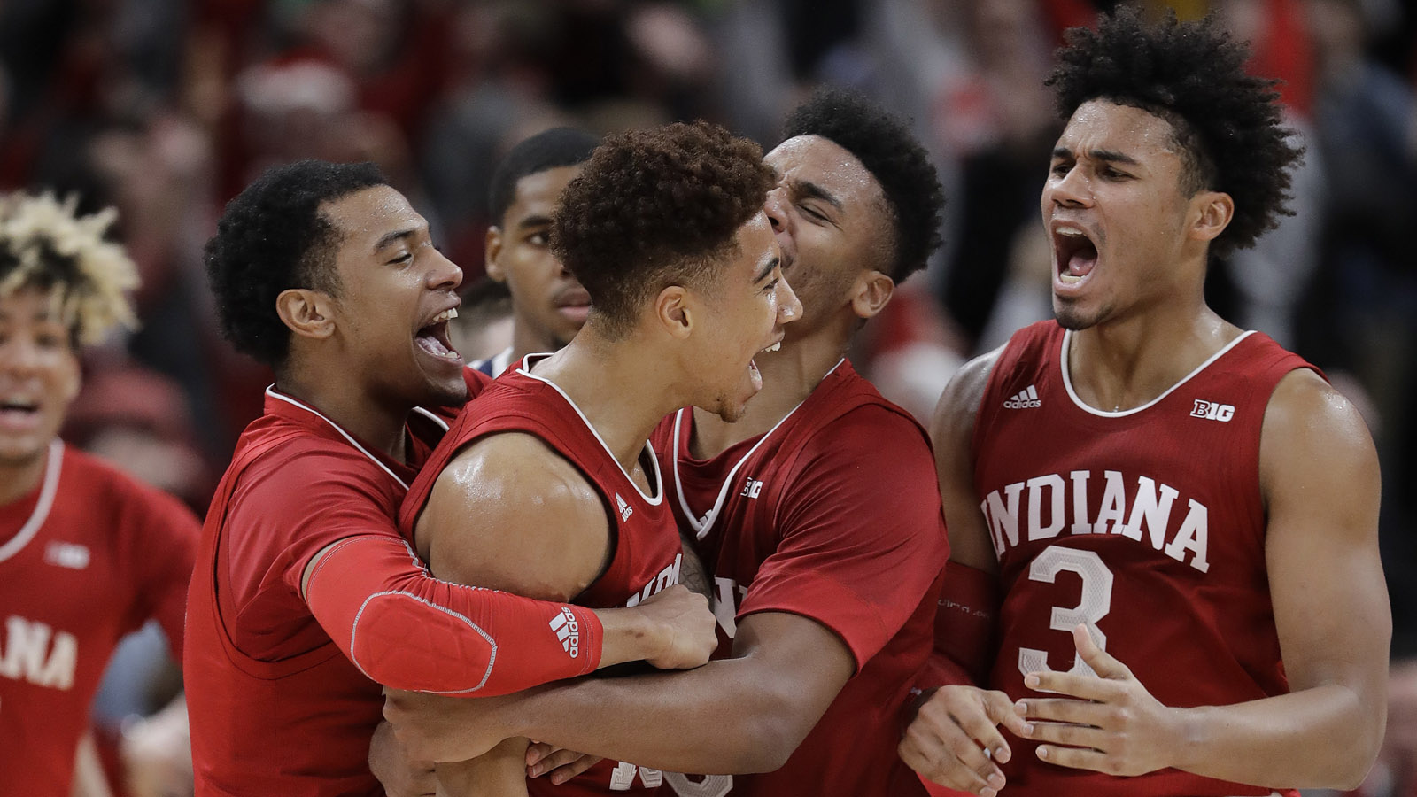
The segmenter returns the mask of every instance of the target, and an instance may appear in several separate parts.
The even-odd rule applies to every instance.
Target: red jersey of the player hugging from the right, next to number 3
[[[949,554],[925,431],[842,360],[767,434],[694,459],[693,411],[655,431],[672,501],[714,580],[717,658],[758,611],[809,617],[856,659],[816,728],[772,773],[666,773],[663,797],[924,794],[896,745],[931,651]],[[727,730],[726,730],[727,732]]]

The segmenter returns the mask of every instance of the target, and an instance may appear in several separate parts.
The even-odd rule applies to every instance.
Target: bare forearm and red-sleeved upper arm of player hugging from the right
[[[883,428],[900,434],[898,421],[890,413]],[[510,732],[674,771],[781,767],[939,573],[939,506],[918,499],[935,486],[928,448],[913,425],[904,434],[914,440],[896,445],[871,427],[852,438],[860,451],[845,452],[850,441],[822,435],[832,454],[803,458],[811,464],[791,479],[777,512],[781,543],[740,608],[731,658],[683,674],[553,685],[492,701],[483,716],[394,699],[385,716],[418,754],[432,757]],[[907,445],[914,457],[903,457]],[[843,459],[873,478],[843,476]],[[883,496],[881,482],[898,489]]]

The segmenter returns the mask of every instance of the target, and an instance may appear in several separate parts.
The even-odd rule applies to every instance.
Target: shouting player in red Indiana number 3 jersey
[[[952,615],[998,613],[998,645],[956,654],[993,691],[937,692],[901,754],[986,796],[1353,787],[1391,631],[1373,444],[1203,298],[1209,257],[1285,213],[1299,152],[1213,18],[1122,10],[1068,41],[1041,197],[1057,322],[966,366],[934,430],[972,608]]]

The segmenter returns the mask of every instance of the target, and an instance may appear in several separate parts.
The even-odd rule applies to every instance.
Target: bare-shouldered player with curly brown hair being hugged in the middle
[[[591,294],[589,318],[567,347],[526,357],[470,403],[414,484],[401,523],[417,519],[434,573],[602,607],[679,580],[649,434],[689,404],[740,418],[762,389],[754,359],[801,311],[762,211],[771,186],[755,143],[706,122],[609,136],[595,150],[553,235]],[[526,740],[512,739],[451,771],[478,794],[526,794],[524,759]],[[659,781],[601,762],[565,784],[530,786],[611,794]]]

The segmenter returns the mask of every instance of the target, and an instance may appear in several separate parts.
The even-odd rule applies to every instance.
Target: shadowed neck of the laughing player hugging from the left
[[[313,407],[360,442],[405,462],[408,413],[411,406],[390,406],[383,396],[350,390],[349,376],[324,376],[290,369],[276,376],[275,389]]]

